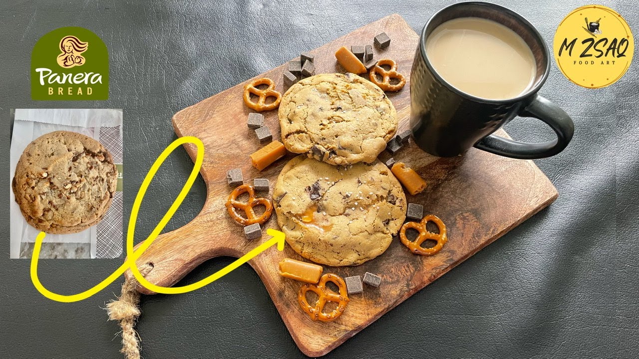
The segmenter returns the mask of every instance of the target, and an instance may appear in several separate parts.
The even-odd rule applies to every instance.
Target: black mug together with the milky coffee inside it
[[[427,22],[410,77],[415,143],[439,157],[471,147],[512,158],[543,158],[566,148],[571,118],[537,92],[548,78],[543,37],[518,13],[472,1],[438,11]],[[515,116],[533,117],[557,135],[548,142],[505,139],[493,132]]]

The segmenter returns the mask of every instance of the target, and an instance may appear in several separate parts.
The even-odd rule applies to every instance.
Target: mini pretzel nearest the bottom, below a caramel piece
[[[339,293],[335,293],[330,290],[330,288],[327,288],[326,282],[333,282],[339,288]],[[318,301],[314,306],[311,306],[306,300],[306,293],[308,291],[318,294]],[[300,302],[300,307],[302,307],[304,312],[314,321],[334,321],[342,315],[349,301],[348,294],[346,293],[346,283],[344,283],[344,280],[339,277],[339,275],[333,273],[327,273],[321,276],[319,284],[304,284],[297,294],[297,300]],[[326,302],[337,303],[337,309],[330,313],[323,312],[322,310],[324,310]]]

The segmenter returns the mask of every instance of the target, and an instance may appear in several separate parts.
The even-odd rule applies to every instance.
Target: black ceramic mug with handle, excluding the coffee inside
[[[480,17],[512,29],[527,43],[537,65],[530,88],[515,98],[487,100],[454,88],[431,65],[426,40],[443,22]],[[410,77],[411,128],[415,142],[438,157],[452,157],[474,146],[497,155],[534,159],[556,155],[573,138],[574,124],[562,109],[537,95],[550,70],[548,47],[539,32],[518,13],[491,3],[457,3],[443,8],[424,26]],[[557,139],[542,143],[513,141],[491,135],[514,116],[547,123]]]

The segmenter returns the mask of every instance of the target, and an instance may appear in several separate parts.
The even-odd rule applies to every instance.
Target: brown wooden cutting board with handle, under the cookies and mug
[[[343,45],[372,44],[373,37],[381,32],[386,32],[392,41],[387,49],[374,49],[375,58],[396,60],[399,71],[407,79],[403,90],[389,94],[397,109],[401,132],[408,128],[410,69],[419,40],[404,19],[390,15],[311,53],[315,55],[317,73],[344,72],[336,65],[335,50]],[[300,52],[303,50],[306,49]],[[277,90],[284,93],[284,68],[285,65],[279,66],[258,77],[275,80]],[[204,142],[201,175],[208,197],[192,222],[160,235],[137,261],[138,265],[153,263],[147,277],[150,282],[171,286],[206,259],[240,257],[269,238],[264,231],[261,240],[246,240],[242,227],[227,214],[224,203],[231,188],[226,182],[226,171],[242,168],[245,183],[251,183],[254,178],[268,178],[272,193],[279,172],[295,154],[289,153],[262,172],[252,167],[249,155],[263,145],[254,130],[247,128],[246,119],[251,111],[242,102],[242,91],[243,84],[238,84],[173,116],[178,136],[196,136]],[[263,114],[273,138],[279,139],[277,110]],[[186,149],[194,159],[195,146],[187,145]],[[383,161],[389,157],[386,152],[380,155]],[[269,248],[249,261],[296,344],[306,355],[325,355],[557,198],[555,187],[532,161],[498,157],[477,149],[470,149],[463,157],[437,158],[421,151],[412,141],[394,157],[415,169],[429,183],[424,193],[407,195],[407,199],[423,204],[425,214],[433,213],[447,225],[449,241],[441,252],[435,256],[417,256],[395,238],[384,254],[360,266],[325,266],[325,273],[337,273],[341,277],[364,275],[366,271],[382,277],[380,287],[365,286],[364,293],[351,294],[346,311],[332,323],[311,321],[297,302],[302,283],[278,275],[277,264],[284,257],[302,260],[288,245],[282,252]],[[275,213],[263,227],[279,229]],[[142,287],[139,290],[148,293]]]

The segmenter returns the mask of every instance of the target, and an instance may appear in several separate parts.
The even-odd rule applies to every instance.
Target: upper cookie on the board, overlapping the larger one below
[[[282,142],[332,165],[371,163],[397,131],[384,91],[353,73],[325,73],[286,91],[279,107]]]

